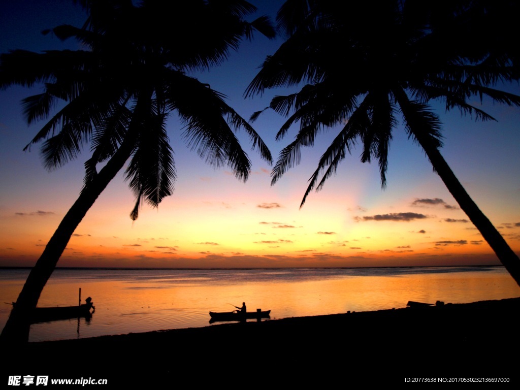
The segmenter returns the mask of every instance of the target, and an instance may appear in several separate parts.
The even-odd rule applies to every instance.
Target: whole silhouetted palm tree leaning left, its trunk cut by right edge
[[[246,90],[246,95],[252,95],[306,83],[297,93],[273,98],[268,107],[289,116],[277,139],[300,121],[295,139],[280,152],[271,184],[300,161],[301,148],[312,146],[318,133],[343,124],[311,175],[301,206],[310,191],[320,190],[336,172],[358,139],[363,147],[361,161],[378,161],[384,187],[388,145],[400,117],[408,137],[424,150],[461,209],[520,285],[518,256],[440,154],[441,123],[428,106],[431,100],[443,100],[446,110],[458,108],[477,119],[492,120],[468,99],[477,96],[482,101],[486,96],[520,105],[519,96],[496,88],[520,79],[518,48],[503,39],[508,34],[518,36],[512,20],[518,4],[389,0],[349,3],[347,10],[339,4],[287,1],[277,18],[287,41],[267,57]]]

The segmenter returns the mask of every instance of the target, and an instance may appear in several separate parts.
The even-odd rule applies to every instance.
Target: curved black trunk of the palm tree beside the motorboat
[[[42,255],[31,269],[27,281],[25,281],[16,301],[16,306],[11,310],[2,335],[0,335],[1,344],[20,344],[28,341],[29,314],[36,307],[38,298],[40,298],[40,294],[53,273],[61,254],[67,247],[72,233],[110,180],[121,170],[125,161],[132,154],[134,146],[135,137],[128,136],[96,178],[84,188],[79,198],[63,217]]]

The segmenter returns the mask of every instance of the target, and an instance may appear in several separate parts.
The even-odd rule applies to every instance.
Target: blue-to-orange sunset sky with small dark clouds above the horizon
[[[253,18],[276,16],[280,1],[257,1]],[[61,23],[80,25],[84,14],[69,1],[5,0],[0,9],[0,52],[9,49],[79,48],[40,32]],[[244,99],[243,92],[268,54],[281,40],[256,34],[243,42],[223,66],[198,74],[228,96],[229,105],[248,119],[277,94]],[[338,43],[341,50],[341,43]],[[345,69],[348,72],[348,69]],[[520,94],[518,85],[504,86]],[[77,161],[48,172],[38,147],[22,149],[44,122],[28,126],[20,100],[41,91],[0,90],[0,266],[32,266],[83,183],[88,146]],[[479,106],[477,98],[474,104]],[[444,155],[480,209],[520,252],[520,108],[483,108],[498,122],[475,122],[460,112],[443,121]],[[282,141],[275,134],[284,118],[271,111],[253,123],[274,155],[296,134]],[[132,192],[120,173],[89,210],[58,266],[95,267],[351,267],[500,264],[422,150],[398,126],[389,152],[387,188],[381,189],[377,164],[359,162],[361,148],[342,163],[323,190],[313,192],[300,209],[307,179],[335,135],[330,129],[302,164],[270,186],[271,166],[251,151],[252,174],[244,184],[226,168],[215,170],[186,147],[175,116],[168,135],[175,152],[177,180],[173,196],[158,209],[143,205],[132,222]]]

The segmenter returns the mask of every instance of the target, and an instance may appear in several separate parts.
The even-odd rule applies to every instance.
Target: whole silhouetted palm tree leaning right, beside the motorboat
[[[173,192],[175,165],[166,132],[170,113],[184,121],[188,146],[210,164],[227,164],[239,179],[248,178],[251,162],[234,131],[244,129],[252,148],[271,161],[261,137],[225,103],[224,95],[186,74],[224,61],[254,30],[273,37],[267,18],[243,20],[255,7],[242,0],[176,2],[176,12],[164,12],[154,1],[82,4],[88,11],[82,28],[62,25],[53,32],[63,39],[75,37],[87,50],[16,50],[1,57],[2,88],[45,83],[42,94],[23,101],[29,123],[47,118],[58,101],[66,103],[27,146],[45,140],[46,167],[75,159],[88,142],[92,152],[80,196],[31,270],[2,332],[3,342],[28,340],[28,315],[72,233],[128,159],[126,180],[136,197],[132,219],[143,200],[157,206]]]

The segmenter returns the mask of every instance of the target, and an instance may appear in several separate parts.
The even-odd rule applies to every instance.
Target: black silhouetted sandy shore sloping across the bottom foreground
[[[49,375],[108,379],[101,388],[259,382],[357,388],[413,383],[406,378],[510,378],[506,385],[517,386],[518,314],[520,298],[512,298],[30,343],[2,351],[8,362],[1,380]]]

